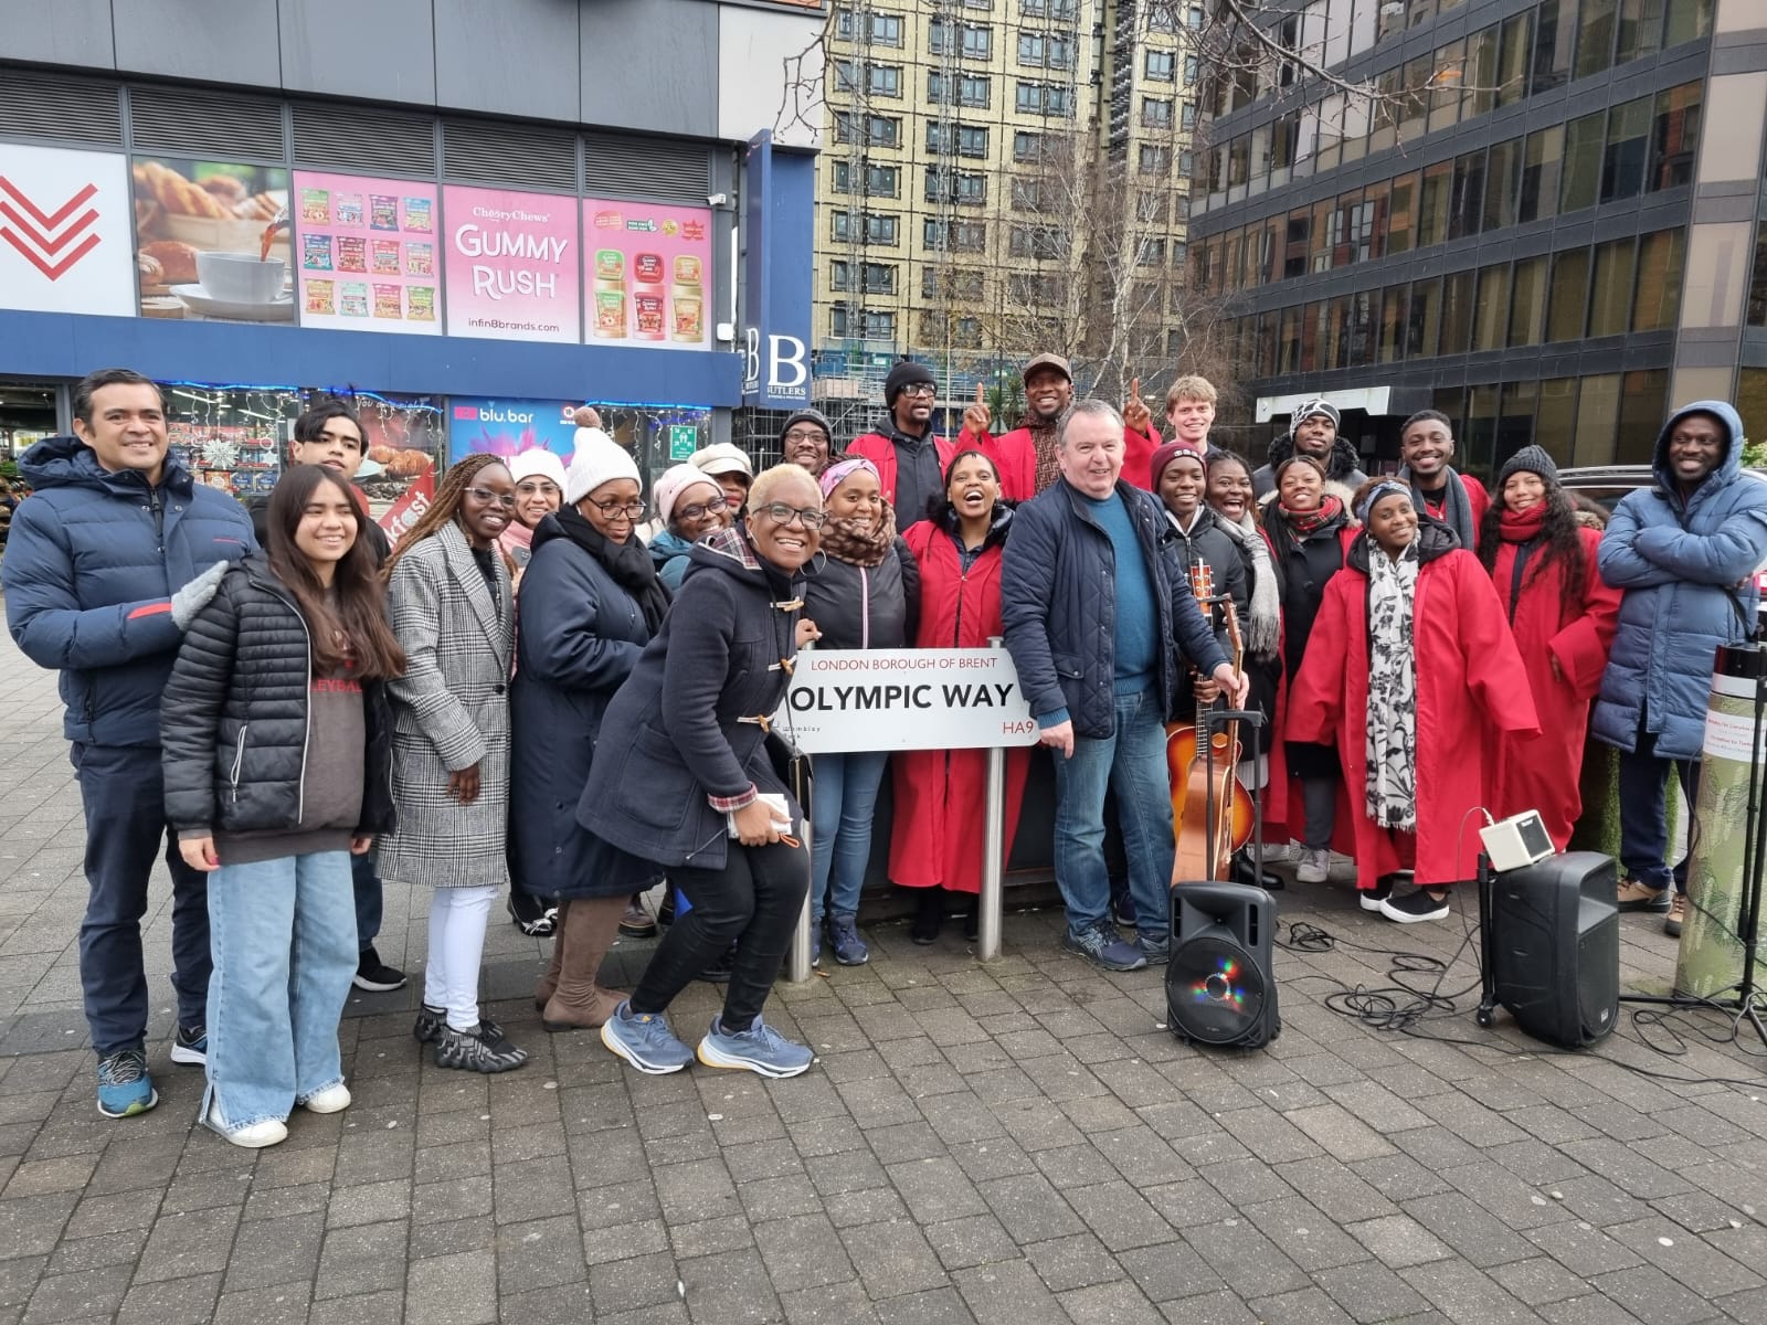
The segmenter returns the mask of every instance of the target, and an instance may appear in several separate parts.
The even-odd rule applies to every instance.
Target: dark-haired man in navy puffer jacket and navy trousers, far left
[[[5,615],[34,662],[62,673],[87,816],[80,984],[110,1118],[159,1102],[147,1072],[147,880],[171,869],[171,1060],[201,1064],[209,1000],[209,894],[168,841],[159,774],[159,694],[184,627],[230,562],[256,544],[244,509],[168,456],[164,401],[148,378],[106,367],[74,387],[74,436],[19,461],[35,493],[12,518]]]

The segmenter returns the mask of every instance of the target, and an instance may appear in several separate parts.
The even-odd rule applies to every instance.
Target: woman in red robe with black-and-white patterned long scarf
[[[1486,733],[1539,723],[1479,560],[1396,479],[1362,484],[1355,511],[1364,530],[1325,585],[1288,730],[1338,744],[1362,908],[1440,920],[1449,885],[1477,867]],[[1417,890],[1394,896],[1401,869]]]

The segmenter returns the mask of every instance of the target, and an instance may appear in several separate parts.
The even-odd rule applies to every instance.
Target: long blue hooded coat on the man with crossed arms
[[[1668,466],[1668,436],[1689,413],[1714,415],[1728,433],[1725,458],[1682,498]],[[1601,578],[1624,592],[1608,670],[1596,698],[1597,740],[1636,749],[1640,721],[1663,760],[1698,760],[1705,700],[1719,645],[1755,632],[1767,560],[1767,484],[1742,473],[1742,419],[1725,401],[1695,401],[1657,433],[1654,488],[1620,498],[1601,539]]]

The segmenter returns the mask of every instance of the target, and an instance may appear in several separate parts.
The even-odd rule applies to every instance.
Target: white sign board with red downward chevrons
[[[134,314],[129,163],[0,143],[0,307]]]

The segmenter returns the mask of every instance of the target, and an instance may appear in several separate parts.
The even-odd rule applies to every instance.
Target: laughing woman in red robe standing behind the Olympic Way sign
[[[915,648],[986,648],[1000,624],[1000,555],[1012,532],[1012,509],[1000,500],[1000,472],[981,450],[959,450],[945,466],[945,491],[926,519],[901,535],[921,569],[921,620]],[[1030,749],[1005,754],[1007,853],[1025,799]],[[896,754],[896,818],[889,876],[914,889],[910,938],[933,943],[951,894],[968,901],[965,935],[975,936],[975,896],[982,887],[982,816],[988,753],[917,749]],[[1002,862],[1004,864],[1004,862]]]

